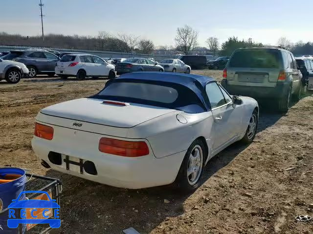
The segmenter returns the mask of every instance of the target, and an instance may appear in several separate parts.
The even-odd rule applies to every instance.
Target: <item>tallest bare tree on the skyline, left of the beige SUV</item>
[[[198,32],[188,25],[177,28],[177,35],[175,37],[177,47],[188,55],[198,44]]]

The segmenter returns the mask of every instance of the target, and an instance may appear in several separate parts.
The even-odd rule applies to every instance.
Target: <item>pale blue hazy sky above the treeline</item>
[[[155,45],[174,45],[177,27],[208,37],[252,38],[275,45],[313,40],[313,0],[42,0],[45,34],[133,34]],[[0,31],[41,35],[40,0],[0,0]],[[302,3],[301,3],[302,2]]]

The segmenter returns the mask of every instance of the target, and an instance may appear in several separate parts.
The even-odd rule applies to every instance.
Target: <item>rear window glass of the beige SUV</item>
[[[230,59],[229,67],[280,68],[280,53],[277,50],[238,51]]]

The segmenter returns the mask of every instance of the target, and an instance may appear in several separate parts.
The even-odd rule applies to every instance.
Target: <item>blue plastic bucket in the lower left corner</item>
[[[22,226],[20,232],[18,230],[20,227],[16,229],[8,228],[7,219],[9,217],[9,211],[3,212],[3,210],[11,204],[12,199],[16,199],[20,193],[25,190],[25,171],[20,168],[12,167],[0,168],[0,179],[5,178],[7,175],[19,175],[20,177],[9,182],[0,182],[0,209],[2,207],[2,210],[0,210],[0,233],[22,234],[25,232],[25,225]],[[22,195],[20,200],[24,198],[25,194]],[[18,214],[17,211],[15,214]]]

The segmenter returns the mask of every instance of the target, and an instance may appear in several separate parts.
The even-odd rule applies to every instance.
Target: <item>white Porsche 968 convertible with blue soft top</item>
[[[230,96],[213,78],[129,73],[94,96],[41,110],[32,147],[43,166],[73,176],[191,191],[213,156],[254,139],[258,116],[256,100]]]

